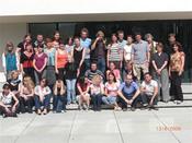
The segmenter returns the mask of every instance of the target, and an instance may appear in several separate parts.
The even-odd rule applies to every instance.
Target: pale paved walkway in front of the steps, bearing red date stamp
[[[192,108],[0,117],[0,143],[191,143]]]

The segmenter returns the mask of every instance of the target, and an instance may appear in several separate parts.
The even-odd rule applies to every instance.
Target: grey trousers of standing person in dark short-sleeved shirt
[[[160,78],[161,78],[162,100],[168,102],[170,100],[170,96],[169,96],[169,75],[167,69],[163,69],[161,71]]]

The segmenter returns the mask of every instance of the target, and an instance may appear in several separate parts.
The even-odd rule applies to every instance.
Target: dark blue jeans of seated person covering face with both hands
[[[67,97],[66,95],[54,95],[54,108],[56,112],[61,112],[61,110],[66,110]]]

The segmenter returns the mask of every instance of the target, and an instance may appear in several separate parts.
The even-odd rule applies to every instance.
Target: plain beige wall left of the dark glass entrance
[[[16,47],[27,32],[26,23],[3,23],[0,24],[0,56],[4,50],[8,40],[13,41]],[[2,60],[0,59],[0,71],[2,71]]]

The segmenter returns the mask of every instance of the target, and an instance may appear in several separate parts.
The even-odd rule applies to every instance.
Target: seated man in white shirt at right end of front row
[[[144,74],[140,92],[144,106],[147,105],[149,109],[157,109],[158,83],[151,79],[150,73]]]

